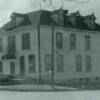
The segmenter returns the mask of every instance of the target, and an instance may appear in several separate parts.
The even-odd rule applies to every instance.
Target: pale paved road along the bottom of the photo
[[[0,91],[0,100],[100,100],[100,91],[74,91],[56,93]]]

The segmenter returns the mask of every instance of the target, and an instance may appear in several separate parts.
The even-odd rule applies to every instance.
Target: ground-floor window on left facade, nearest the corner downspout
[[[29,73],[35,73],[35,56],[29,55]]]

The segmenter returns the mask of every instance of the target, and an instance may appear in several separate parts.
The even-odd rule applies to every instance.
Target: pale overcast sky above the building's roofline
[[[48,3],[41,0],[41,9],[52,10]],[[46,0],[48,1],[48,0]],[[75,0],[76,1],[76,0]],[[72,2],[72,0],[63,0],[63,8],[69,10],[69,13],[80,11],[80,14],[85,16],[94,12],[96,22],[100,23],[100,0],[78,0],[81,2]],[[89,1],[86,3],[85,1]],[[27,13],[40,9],[40,0],[0,0],[0,26],[10,20],[12,12]],[[84,3],[83,3],[84,2]],[[62,3],[61,0],[53,0],[55,9],[59,9]]]

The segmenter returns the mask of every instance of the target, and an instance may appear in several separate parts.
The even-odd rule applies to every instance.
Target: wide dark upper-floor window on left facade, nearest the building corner
[[[22,34],[22,49],[30,49],[30,33]]]

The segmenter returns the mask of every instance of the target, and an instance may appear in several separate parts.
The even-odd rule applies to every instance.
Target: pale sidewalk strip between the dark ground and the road
[[[50,85],[15,85],[0,86],[0,90],[6,91],[76,91],[76,88],[55,86],[53,89]]]

